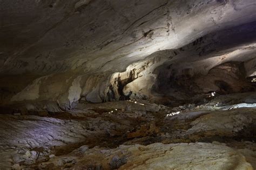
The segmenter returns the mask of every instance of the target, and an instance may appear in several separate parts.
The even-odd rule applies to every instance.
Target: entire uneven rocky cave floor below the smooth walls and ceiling
[[[256,93],[0,115],[0,169],[255,169]]]

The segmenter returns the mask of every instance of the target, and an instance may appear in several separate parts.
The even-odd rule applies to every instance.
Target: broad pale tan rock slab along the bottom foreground
[[[71,158],[75,157],[72,154],[65,155],[35,167],[52,165],[53,169],[58,169],[70,165],[69,162],[60,165],[58,160],[72,160]],[[75,159],[77,162],[72,168],[77,169],[253,169],[238,151],[207,143],[121,145],[111,150],[91,148],[85,155]]]

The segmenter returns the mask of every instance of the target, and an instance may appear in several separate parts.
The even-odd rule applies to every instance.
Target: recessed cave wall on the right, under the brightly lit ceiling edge
[[[131,97],[136,99],[169,103],[211,91],[219,94],[254,91],[255,84],[246,77],[255,69],[255,30],[255,23],[244,24],[207,34],[175,50],[154,53],[140,62],[151,64],[138,79],[125,86],[124,92],[133,91]],[[142,66],[135,63],[130,67]],[[230,87],[223,90],[215,81],[227,82]]]

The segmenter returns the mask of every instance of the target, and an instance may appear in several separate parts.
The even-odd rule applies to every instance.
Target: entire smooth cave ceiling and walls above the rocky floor
[[[79,100],[255,90],[255,0],[0,3],[2,106],[59,111]]]

